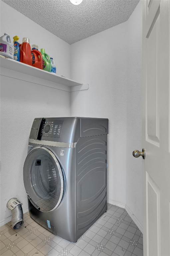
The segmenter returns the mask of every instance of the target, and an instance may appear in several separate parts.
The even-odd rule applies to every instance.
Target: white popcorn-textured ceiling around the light
[[[128,20],[139,0],[3,0],[43,28],[73,44]]]

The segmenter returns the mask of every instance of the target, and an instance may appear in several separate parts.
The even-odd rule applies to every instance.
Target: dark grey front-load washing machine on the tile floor
[[[29,213],[76,242],[107,210],[108,119],[35,118],[24,163]]]

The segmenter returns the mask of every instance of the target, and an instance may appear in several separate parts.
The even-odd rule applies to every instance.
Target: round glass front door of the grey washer
[[[55,210],[60,204],[64,179],[56,156],[45,147],[36,147],[24,163],[24,186],[31,203],[42,212]]]

